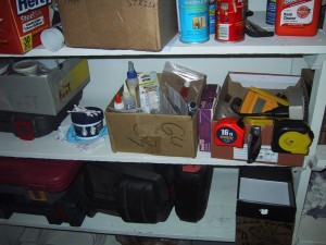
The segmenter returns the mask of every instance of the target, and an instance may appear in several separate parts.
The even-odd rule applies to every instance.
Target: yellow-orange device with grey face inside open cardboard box
[[[260,113],[289,102],[256,87],[250,87],[240,107],[241,113]]]

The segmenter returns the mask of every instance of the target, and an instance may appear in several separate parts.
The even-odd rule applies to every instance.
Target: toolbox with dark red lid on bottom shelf
[[[83,223],[83,163],[0,157],[0,218],[13,212],[46,216],[49,223]]]

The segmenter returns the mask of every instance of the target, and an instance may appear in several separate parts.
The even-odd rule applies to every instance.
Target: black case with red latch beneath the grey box
[[[33,140],[55,131],[83,97],[80,90],[57,115],[0,111],[0,132],[13,133],[15,136]]]

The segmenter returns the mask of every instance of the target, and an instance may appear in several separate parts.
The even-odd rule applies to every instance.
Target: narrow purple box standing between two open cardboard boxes
[[[199,150],[211,152],[211,121],[220,86],[206,84],[199,105]]]

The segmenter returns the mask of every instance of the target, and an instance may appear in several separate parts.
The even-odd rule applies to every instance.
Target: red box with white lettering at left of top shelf
[[[40,34],[50,27],[48,4],[43,1],[0,1],[0,53],[25,53],[39,46]]]

